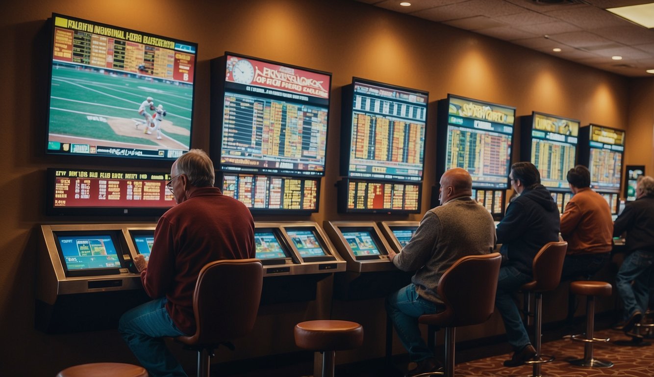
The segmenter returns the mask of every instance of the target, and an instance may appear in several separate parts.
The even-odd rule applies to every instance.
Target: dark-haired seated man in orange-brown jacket
[[[561,216],[561,236],[568,242],[561,279],[594,275],[611,254],[613,219],[608,202],[591,190],[591,172],[583,165],[568,171],[572,199]]]

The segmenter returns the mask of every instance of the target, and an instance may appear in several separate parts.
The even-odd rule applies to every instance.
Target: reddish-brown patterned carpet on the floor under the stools
[[[596,338],[611,338],[610,342],[594,344],[594,358],[613,362],[611,368],[582,368],[568,363],[568,360],[583,358],[583,343],[569,339],[547,342],[542,346],[543,355],[553,355],[555,361],[542,364],[543,376],[590,377],[590,376],[654,376],[654,346],[633,347],[618,346],[615,340],[630,340],[622,332],[613,330],[598,331]],[[646,342],[651,342],[651,340]],[[456,376],[529,376],[532,367],[505,368],[502,361],[511,355],[498,355],[485,359],[473,360],[456,365]]]

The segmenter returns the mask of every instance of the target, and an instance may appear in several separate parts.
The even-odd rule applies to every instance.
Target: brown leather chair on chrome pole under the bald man
[[[453,377],[456,327],[477,325],[490,318],[500,274],[500,253],[469,255],[455,262],[438,281],[438,295],[445,310],[421,315],[420,323],[445,327],[445,376]],[[443,372],[420,374],[432,376]]]

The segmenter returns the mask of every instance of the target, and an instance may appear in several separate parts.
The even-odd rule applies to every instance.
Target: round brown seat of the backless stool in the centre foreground
[[[352,350],[364,341],[364,328],[356,322],[305,321],[295,325],[295,344],[305,350]]]

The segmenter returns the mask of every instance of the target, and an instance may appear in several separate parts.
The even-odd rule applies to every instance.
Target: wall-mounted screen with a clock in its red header
[[[331,73],[230,52],[212,60],[216,168],[324,175],[331,82]]]

